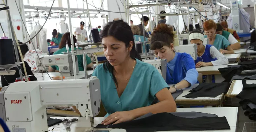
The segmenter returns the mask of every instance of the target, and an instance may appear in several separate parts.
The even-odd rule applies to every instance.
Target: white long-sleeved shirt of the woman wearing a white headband
[[[206,45],[204,45],[204,47],[206,47]],[[227,57],[225,57],[221,52],[219,52],[219,50],[216,49],[214,46],[211,46],[210,54],[211,54],[212,58],[216,58],[217,59],[215,61],[211,61],[211,63],[213,65],[226,65],[226,64],[229,64],[229,60],[227,59]],[[201,56],[199,56],[199,57],[201,57]]]

